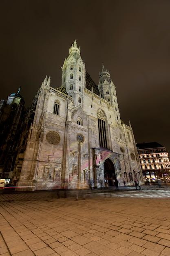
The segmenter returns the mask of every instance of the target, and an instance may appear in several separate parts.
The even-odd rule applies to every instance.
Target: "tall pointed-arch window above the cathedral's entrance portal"
[[[99,130],[99,145],[102,148],[108,148],[107,134],[106,134],[106,117],[102,110],[97,112],[98,130]]]

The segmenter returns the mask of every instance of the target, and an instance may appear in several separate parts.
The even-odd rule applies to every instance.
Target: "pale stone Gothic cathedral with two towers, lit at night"
[[[30,111],[34,116],[24,156],[20,161],[18,152],[13,170],[18,190],[143,181],[132,127],[121,121],[110,73],[103,65],[96,85],[86,72],[76,41],[62,66],[61,87],[51,87],[46,77]],[[24,135],[22,145],[23,141]]]

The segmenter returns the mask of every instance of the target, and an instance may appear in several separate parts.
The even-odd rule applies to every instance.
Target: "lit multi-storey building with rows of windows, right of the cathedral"
[[[157,142],[137,144],[144,180],[170,180],[170,161],[165,147]]]

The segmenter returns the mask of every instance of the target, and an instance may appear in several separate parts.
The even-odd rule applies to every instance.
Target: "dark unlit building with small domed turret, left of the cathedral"
[[[33,114],[24,107],[20,90],[0,101],[0,178],[10,184],[20,177],[29,126],[33,122]],[[14,177],[16,170],[18,175]]]

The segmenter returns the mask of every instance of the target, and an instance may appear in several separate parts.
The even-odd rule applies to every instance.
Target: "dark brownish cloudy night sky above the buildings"
[[[110,71],[136,143],[170,153],[169,0],[0,0],[0,10],[0,99],[21,86],[31,106],[46,75],[60,87],[76,40],[95,83],[102,64]]]

